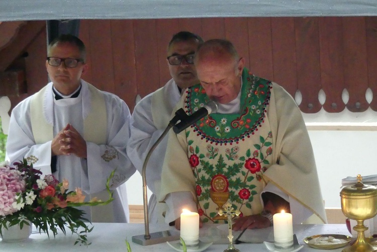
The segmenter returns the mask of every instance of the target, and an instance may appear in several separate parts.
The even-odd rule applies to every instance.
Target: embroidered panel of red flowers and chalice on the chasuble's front
[[[208,144],[204,155],[200,147],[192,146],[194,141],[189,140],[189,162],[197,184],[198,212],[204,216],[204,222],[218,223],[225,220],[210,208],[213,203],[221,207],[231,202],[234,209],[251,209],[251,202],[257,194],[256,183],[261,182],[262,173],[267,170],[266,164],[269,164],[267,157],[272,154],[271,139],[271,132],[268,132],[266,138],[259,136],[260,144],[254,144],[255,149],[247,149],[242,156],[238,156],[239,146],[226,148],[225,156],[233,161],[231,164],[225,162],[222,154],[218,155],[219,148]],[[216,160],[209,161],[205,157]]]

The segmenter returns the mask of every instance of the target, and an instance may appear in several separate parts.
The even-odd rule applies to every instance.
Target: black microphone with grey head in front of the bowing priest
[[[216,111],[217,104],[214,101],[209,101],[206,105],[203,106],[203,108],[200,108],[197,112],[193,113],[190,116],[186,115],[186,113],[181,113],[181,111],[180,113],[178,113],[178,110],[177,112],[175,112],[175,115],[179,115],[180,122],[173,126],[173,131],[175,134],[178,134],[179,132],[194,124],[195,122],[199,121],[206,115],[216,113]]]

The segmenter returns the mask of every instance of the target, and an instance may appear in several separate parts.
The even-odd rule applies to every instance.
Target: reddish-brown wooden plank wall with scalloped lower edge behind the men
[[[377,99],[370,105],[365,99],[368,88],[377,94],[377,17],[82,20],[80,38],[91,66],[84,78],[132,110],[137,94],[144,97],[170,78],[166,46],[182,30],[232,41],[251,72],[292,96],[299,90],[305,113],[322,106],[327,112],[377,110]]]

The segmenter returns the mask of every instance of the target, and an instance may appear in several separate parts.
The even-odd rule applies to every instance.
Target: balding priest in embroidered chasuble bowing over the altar
[[[202,222],[221,223],[226,217],[218,211],[230,202],[241,212],[236,226],[238,218],[239,227],[266,227],[272,223],[260,218],[263,195],[272,193],[287,202],[294,223],[313,216],[326,222],[312,146],[293,98],[251,74],[229,41],[205,42],[195,65],[201,85],[186,89],[176,110],[190,115],[209,100],[219,109],[179,134],[169,132],[159,198],[168,206],[165,221],[179,220],[188,208]],[[279,212],[272,204],[268,211]]]

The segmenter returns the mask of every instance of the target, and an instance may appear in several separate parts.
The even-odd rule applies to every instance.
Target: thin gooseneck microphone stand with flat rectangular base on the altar
[[[167,132],[170,130],[171,127],[173,127],[180,118],[183,118],[183,115],[186,116],[186,113],[183,109],[179,109],[175,112],[175,116],[173,119],[170,120],[169,124],[167,125],[164,132],[161,134],[161,136],[157,139],[157,141],[152,145],[150,150],[148,151],[144,163],[143,168],[141,171],[141,177],[143,179],[143,204],[144,204],[144,226],[145,226],[145,234],[135,235],[132,236],[132,241],[139,245],[152,245],[152,244],[158,244],[166,241],[172,241],[172,240],[179,240],[179,233],[178,232],[172,232],[170,230],[166,231],[159,231],[155,233],[149,233],[149,213],[148,213],[148,197],[147,197],[147,178],[146,178],[146,169],[147,169],[147,163],[152,155],[153,150],[157,147],[157,145],[161,142],[161,140],[165,137]]]

